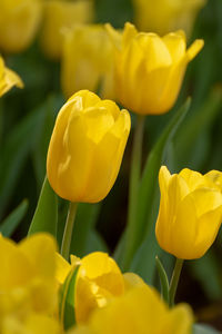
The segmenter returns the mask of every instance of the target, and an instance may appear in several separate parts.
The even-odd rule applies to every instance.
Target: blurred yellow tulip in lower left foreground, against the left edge
[[[0,314],[57,311],[56,243],[47,234],[18,245],[0,236]]]

